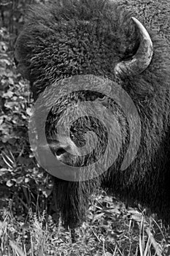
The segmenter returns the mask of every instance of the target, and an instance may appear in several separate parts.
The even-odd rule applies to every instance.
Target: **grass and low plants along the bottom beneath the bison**
[[[87,222],[75,230],[75,243],[70,231],[56,227],[45,213],[37,217],[30,211],[23,222],[22,217],[12,216],[9,207],[1,211],[1,220],[1,256],[170,255],[169,236],[160,220],[126,209],[104,194],[93,198]]]

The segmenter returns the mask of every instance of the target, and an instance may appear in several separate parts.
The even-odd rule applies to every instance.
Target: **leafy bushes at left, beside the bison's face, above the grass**
[[[12,198],[14,211],[47,208],[51,183],[36,164],[28,140],[32,99],[28,81],[15,69],[13,50],[31,0],[0,1],[0,208]]]

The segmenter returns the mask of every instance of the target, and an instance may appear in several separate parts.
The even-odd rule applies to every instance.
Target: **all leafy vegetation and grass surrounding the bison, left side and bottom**
[[[0,2],[0,255],[170,255],[160,220],[104,193],[93,196],[74,243],[70,230],[55,225],[56,213],[47,214],[52,183],[29,146],[33,101],[12,57],[26,4],[31,1]]]

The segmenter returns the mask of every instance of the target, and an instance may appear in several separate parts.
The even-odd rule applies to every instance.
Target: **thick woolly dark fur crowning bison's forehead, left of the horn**
[[[130,17],[114,1],[37,4],[26,15],[18,54],[32,80],[45,79],[47,72],[55,79],[82,73],[110,76],[139,43]]]

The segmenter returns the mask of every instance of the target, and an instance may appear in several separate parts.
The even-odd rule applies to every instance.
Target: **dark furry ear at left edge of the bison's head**
[[[20,37],[19,35],[14,45],[15,66],[18,69],[18,72],[20,72],[20,74],[23,75],[23,78],[31,80],[29,65],[27,61],[28,57],[26,50],[24,48],[24,42],[21,39],[22,37]]]

